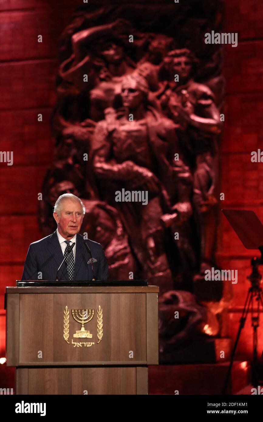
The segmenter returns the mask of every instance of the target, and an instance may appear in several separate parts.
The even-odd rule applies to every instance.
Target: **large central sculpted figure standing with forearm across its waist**
[[[148,103],[149,87],[134,73],[121,85],[124,111],[119,116],[108,110],[110,119],[98,122],[92,139],[94,172],[103,182],[100,195],[118,208],[133,252],[148,279],[161,291],[172,286],[172,276],[163,245],[164,229],[160,218],[170,211],[170,198],[176,186],[176,174],[165,157],[175,140],[174,124],[163,118]],[[161,152],[162,151],[162,152]],[[158,154],[158,152],[160,154]],[[154,171],[170,180],[167,192]],[[116,202],[122,188],[148,192],[148,203]]]

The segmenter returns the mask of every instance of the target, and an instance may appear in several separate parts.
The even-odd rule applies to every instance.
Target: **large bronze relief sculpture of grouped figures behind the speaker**
[[[53,229],[57,195],[82,198],[83,232],[103,246],[111,279],[160,287],[164,360],[189,336],[220,333],[214,309],[222,284],[203,297],[204,271],[214,265],[224,91],[220,46],[203,41],[205,28],[221,25],[215,3],[196,22],[185,5],[149,6],[143,25],[143,5],[79,11],[61,38],[55,159],[43,181],[40,225],[46,234]],[[117,201],[122,191],[147,192],[147,201]],[[176,306],[184,328],[171,314]]]

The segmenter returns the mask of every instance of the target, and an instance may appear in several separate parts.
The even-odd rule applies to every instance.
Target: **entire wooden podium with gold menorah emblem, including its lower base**
[[[158,291],[6,287],[6,363],[16,394],[148,394]]]

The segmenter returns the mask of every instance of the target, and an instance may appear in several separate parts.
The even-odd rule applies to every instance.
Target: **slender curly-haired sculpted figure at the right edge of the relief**
[[[170,51],[165,58],[168,81],[161,105],[177,125],[177,135],[193,173],[193,205],[200,230],[201,273],[211,264],[215,243],[215,175],[220,113],[211,89],[193,80],[195,57],[188,49]],[[179,80],[177,80],[179,79]]]

